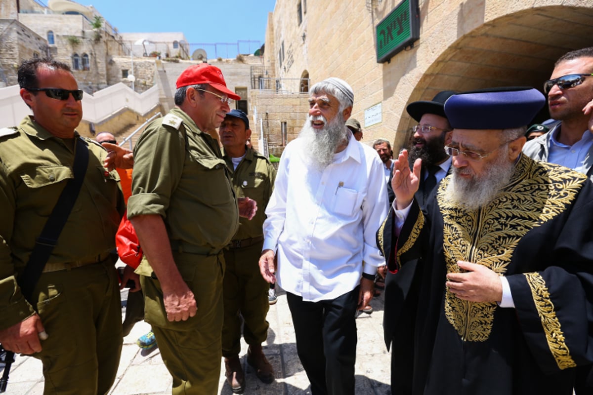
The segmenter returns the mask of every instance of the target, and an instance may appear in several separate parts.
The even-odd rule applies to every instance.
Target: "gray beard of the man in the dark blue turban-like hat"
[[[515,164],[509,162],[506,145],[500,148],[496,161],[484,169],[480,178],[464,179],[459,176],[463,169],[452,168],[452,179],[447,185],[445,197],[467,210],[477,210],[492,202],[496,195],[509,184]]]

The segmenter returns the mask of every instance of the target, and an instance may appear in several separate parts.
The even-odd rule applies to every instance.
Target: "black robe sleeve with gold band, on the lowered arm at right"
[[[549,374],[593,361],[592,213],[593,194],[581,192],[559,236],[547,240],[556,242],[544,269],[507,277],[521,330]]]

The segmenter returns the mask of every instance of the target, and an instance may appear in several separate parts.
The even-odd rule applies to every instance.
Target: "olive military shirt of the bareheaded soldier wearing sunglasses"
[[[92,261],[115,248],[125,210],[119,176],[103,167],[103,147],[83,141],[89,151],[87,172],[50,264]],[[18,127],[0,129],[0,330],[33,314],[17,276],[66,182],[74,178],[74,146],[74,140],[53,136],[32,117]]]

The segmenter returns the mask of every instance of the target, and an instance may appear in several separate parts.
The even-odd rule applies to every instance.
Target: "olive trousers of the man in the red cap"
[[[173,251],[181,277],[196,298],[197,313],[170,322],[161,285],[141,275],[145,321],[152,325],[161,357],[173,377],[173,395],[212,395],[218,391],[222,358],[222,276],[224,257]]]

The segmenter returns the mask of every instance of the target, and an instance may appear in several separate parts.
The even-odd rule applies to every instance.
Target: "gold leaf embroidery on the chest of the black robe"
[[[457,261],[468,261],[499,275],[506,273],[521,238],[562,213],[588,181],[585,175],[522,156],[508,186],[492,203],[466,210],[447,200],[449,179],[441,182],[437,194],[447,272],[459,272]],[[489,338],[496,307],[496,303],[464,301],[445,291],[445,316],[464,341]]]

